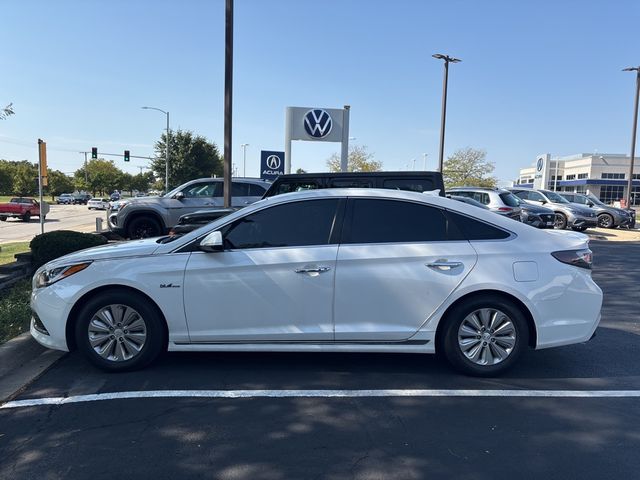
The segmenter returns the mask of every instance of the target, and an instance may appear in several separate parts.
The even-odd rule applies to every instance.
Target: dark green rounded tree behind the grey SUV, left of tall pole
[[[166,166],[166,133],[156,142],[156,158],[151,169],[164,189]],[[189,180],[222,175],[222,159],[215,143],[187,130],[170,132],[169,186],[177,187]]]

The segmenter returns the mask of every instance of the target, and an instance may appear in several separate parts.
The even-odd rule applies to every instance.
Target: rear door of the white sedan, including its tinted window
[[[476,264],[436,207],[351,198],[335,279],[336,341],[411,337]]]

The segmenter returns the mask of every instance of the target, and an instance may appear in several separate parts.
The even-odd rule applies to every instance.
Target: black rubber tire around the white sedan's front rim
[[[116,306],[126,306],[135,310],[138,316],[132,314],[133,316],[129,315],[127,318],[134,319],[136,322],[136,319],[140,318],[145,326],[146,338],[142,347],[128,359],[105,358],[94,350],[90,343],[89,327],[94,316],[102,309]],[[109,311],[113,312],[113,308],[110,308]],[[113,312],[113,314],[112,318],[117,319],[117,313]],[[126,319],[123,319],[123,322],[124,320]],[[97,345],[97,348],[104,347],[105,355],[109,356],[109,352],[112,352],[111,356],[115,356],[119,345],[118,340],[121,340],[121,343],[125,342],[124,333],[128,333],[125,327],[126,325],[123,325],[122,329],[115,327],[115,330],[112,330],[112,334],[109,335],[110,338],[105,339],[106,342],[112,342],[113,350],[107,349],[107,344]],[[82,355],[96,367],[108,372],[124,372],[145,367],[166,349],[167,344],[164,321],[155,306],[151,305],[144,297],[124,290],[105,291],[90,299],[78,312],[75,323],[75,338],[78,350]],[[132,352],[133,350],[128,351]]]

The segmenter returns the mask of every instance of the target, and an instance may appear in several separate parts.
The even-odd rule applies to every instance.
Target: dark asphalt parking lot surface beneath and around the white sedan
[[[66,355],[16,399],[51,405],[0,409],[0,478],[638,478],[640,243],[592,249],[597,336],[500,378],[419,355],[181,353],[127,374]]]

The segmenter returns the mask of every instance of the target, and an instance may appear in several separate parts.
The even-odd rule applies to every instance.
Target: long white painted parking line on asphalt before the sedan
[[[8,408],[65,405],[68,403],[136,398],[370,398],[370,397],[531,397],[531,398],[638,398],[640,390],[150,390],[112,392],[72,397],[15,400]]]

